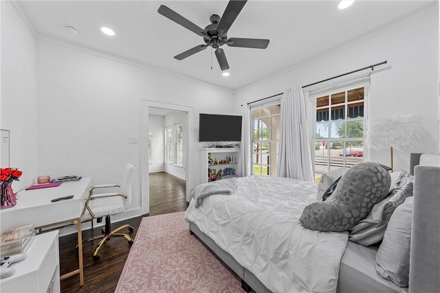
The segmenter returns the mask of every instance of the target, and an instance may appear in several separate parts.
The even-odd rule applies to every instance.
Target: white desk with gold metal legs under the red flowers
[[[85,199],[89,196],[90,187],[91,177],[83,177],[79,181],[62,183],[57,187],[19,191],[17,205],[0,210],[1,230],[26,224],[34,224],[35,228],[43,228],[76,220],[79,268],[63,274],[61,279],[80,274],[80,285],[84,285],[83,237],[80,216],[83,213]],[[50,201],[54,198],[70,195],[73,195],[74,198],[58,202]]]

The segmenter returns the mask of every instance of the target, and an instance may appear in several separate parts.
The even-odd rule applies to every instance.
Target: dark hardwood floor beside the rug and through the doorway
[[[150,213],[159,215],[185,211],[186,202],[185,180],[165,172],[151,173],[150,176]],[[136,236],[142,217],[136,217],[122,222],[115,222],[112,228],[122,224],[131,224],[135,230],[131,237]],[[122,233],[129,233],[122,231]],[[94,228],[94,235],[101,233],[100,228]],[[83,231],[83,239],[91,236],[91,230]],[[78,255],[76,253],[76,234],[60,238],[60,266],[61,274],[78,268]],[[84,285],[80,287],[79,277],[76,274],[61,281],[61,292],[114,292],[124,263],[129,255],[131,246],[124,238],[110,239],[100,248],[100,259],[94,261],[92,254],[98,240],[85,242],[83,246],[84,259]]]

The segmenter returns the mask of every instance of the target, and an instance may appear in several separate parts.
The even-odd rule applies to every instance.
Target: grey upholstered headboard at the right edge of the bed
[[[414,174],[410,248],[410,293],[440,291],[440,167],[419,165],[411,154]]]

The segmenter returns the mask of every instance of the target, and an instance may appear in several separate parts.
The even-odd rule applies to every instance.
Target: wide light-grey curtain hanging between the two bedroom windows
[[[307,104],[301,86],[286,89],[281,98],[278,176],[314,181]]]

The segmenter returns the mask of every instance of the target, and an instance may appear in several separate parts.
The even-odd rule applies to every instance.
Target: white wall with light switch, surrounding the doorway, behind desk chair
[[[91,176],[101,184],[119,180],[131,162],[138,174],[133,215],[140,211],[140,185],[148,182],[139,176],[140,152],[148,145],[129,143],[140,135],[146,139],[138,141],[148,141],[140,130],[141,100],[194,106],[197,116],[212,108],[232,110],[230,91],[50,41],[37,41],[37,64],[39,171]]]

